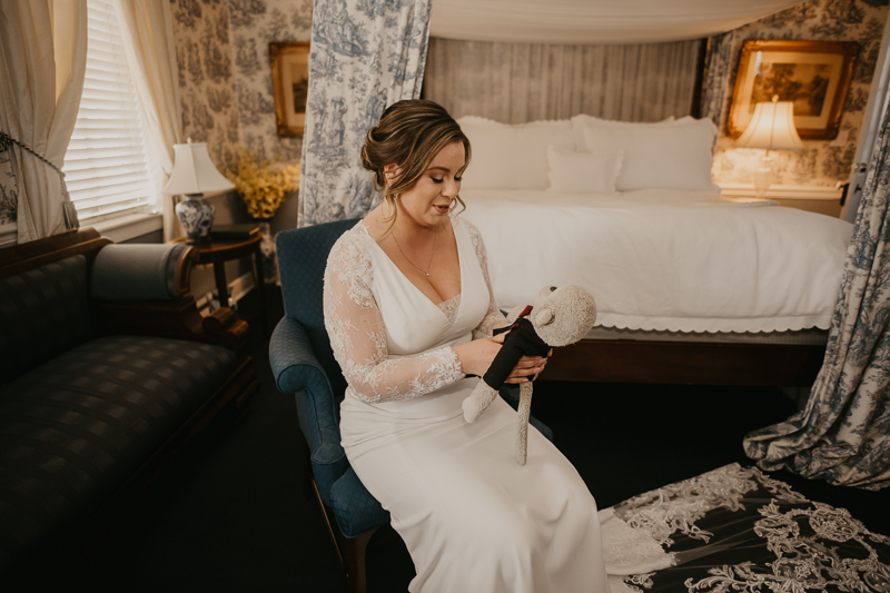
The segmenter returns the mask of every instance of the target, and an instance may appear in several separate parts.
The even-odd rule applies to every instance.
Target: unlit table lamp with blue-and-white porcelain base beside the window
[[[204,194],[233,189],[235,185],[210,160],[206,142],[192,142],[189,138],[188,144],[174,145],[174,172],[164,192],[186,196],[176,205],[176,216],[186,231],[186,243],[206,243],[214,225],[214,207],[204,200]]]

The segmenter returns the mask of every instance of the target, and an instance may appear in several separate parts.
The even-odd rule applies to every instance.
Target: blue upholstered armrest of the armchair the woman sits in
[[[309,336],[296,319],[285,317],[269,339],[269,364],[278,391],[295,394],[299,427],[309,445],[313,474],[322,500],[349,467],[340,445],[337,403],[330,380],[313,352]]]

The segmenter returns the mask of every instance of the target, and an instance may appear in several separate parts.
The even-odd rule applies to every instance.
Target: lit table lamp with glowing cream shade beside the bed
[[[765,148],[760,158],[760,167],[754,171],[754,191],[762,198],[772,184],[774,171],[770,150],[793,150],[803,148],[803,142],[794,127],[794,103],[780,101],[773,95],[772,101],[760,102],[754,107],[751,122],[736,142],[740,148]]]

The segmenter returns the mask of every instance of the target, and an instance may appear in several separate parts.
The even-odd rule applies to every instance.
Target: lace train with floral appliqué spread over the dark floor
[[[764,504],[764,500],[769,503]],[[890,537],[868,531],[844,508],[810,502],[788,484],[768,477],[755,467],[743,468],[738,464],[652,491],[612,510],[602,511],[606,560],[620,564],[624,560],[621,546],[630,550],[627,559],[633,560],[633,545],[640,538],[639,534],[615,530],[611,525],[614,517],[607,516],[611,512],[615,517],[622,517],[629,526],[651,533],[662,545],[670,546],[673,543],[670,536],[678,532],[708,542],[712,534],[699,528],[695,522],[706,512],[718,508],[733,514],[742,512],[732,521],[751,522],[753,533],[752,533],[752,537],[739,542],[742,552],[752,550],[753,542],[765,542],[765,550],[773,557],[765,562],[712,565],[701,576],[684,580],[685,590],[690,593],[890,591],[890,565],[882,562],[887,557]],[[745,516],[750,518],[745,520]],[[610,551],[615,545],[610,530],[619,540],[617,551]],[[714,552],[724,550],[726,543],[725,540],[715,540]],[[684,545],[689,546],[689,542]],[[672,560],[680,570],[694,570],[686,567],[684,557],[702,562],[700,550],[695,547],[678,552],[672,554]],[[652,569],[654,566],[640,566],[640,574],[625,576],[623,584],[630,589],[651,589],[654,580],[657,589],[660,569],[647,572]],[[672,570],[668,569],[669,572]]]

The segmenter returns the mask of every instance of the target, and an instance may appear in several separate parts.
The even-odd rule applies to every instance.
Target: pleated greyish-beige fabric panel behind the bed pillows
[[[431,38],[424,97],[454,117],[504,123],[577,113],[623,121],[688,116],[701,43],[566,46]]]

